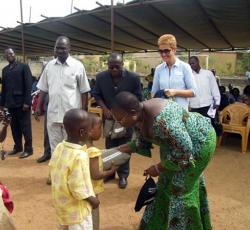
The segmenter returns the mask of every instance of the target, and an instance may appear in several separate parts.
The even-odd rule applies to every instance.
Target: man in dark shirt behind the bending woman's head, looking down
[[[133,93],[142,99],[140,78],[137,74],[129,72],[123,68],[123,58],[121,54],[111,53],[108,58],[108,70],[96,76],[96,85],[93,96],[99,106],[102,107],[105,120],[113,120],[111,115],[111,105],[116,94],[122,91]],[[130,141],[132,130],[126,129],[126,134],[120,138],[107,136],[105,145],[107,149],[125,144]],[[129,162],[121,165],[117,170],[119,176],[119,188],[126,188],[127,177],[129,175]],[[114,179],[115,175],[106,178]]]

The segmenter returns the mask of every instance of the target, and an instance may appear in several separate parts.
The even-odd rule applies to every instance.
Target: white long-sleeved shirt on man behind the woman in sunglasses
[[[190,98],[191,108],[202,108],[212,104],[220,105],[220,91],[213,73],[200,69],[199,73],[193,71],[197,90],[195,97]]]

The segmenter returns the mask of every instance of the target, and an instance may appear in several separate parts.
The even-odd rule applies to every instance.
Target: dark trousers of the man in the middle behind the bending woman
[[[105,145],[106,145],[106,149],[111,149],[114,147],[117,147],[119,145],[122,144],[126,144],[130,141],[131,136],[129,137],[123,137],[123,138],[119,138],[119,139],[110,139],[109,137],[106,138],[105,140]],[[117,174],[119,177],[125,177],[127,178],[129,175],[129,161],[122,164],[118,170],[117,170]]]

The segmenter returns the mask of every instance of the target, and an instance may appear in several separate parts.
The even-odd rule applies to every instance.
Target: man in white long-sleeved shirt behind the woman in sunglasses
[[[200,67],[199,59],[196,56],[189,58],[189,64],[197,85],[196,96],[189,99],[191,111],[209,117],[207,113],[210,106],[218,109],[220,105],[221,96],[216,79],[210,70]]]

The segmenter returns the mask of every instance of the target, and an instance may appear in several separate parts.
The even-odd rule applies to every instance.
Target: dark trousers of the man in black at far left
[[[33,152],[31,111],[23,111],[22,108],[8,109],[11,115],[11,131],[15,142],[14,149],[23,151],[22,135],[24,136],[24,151]]]

